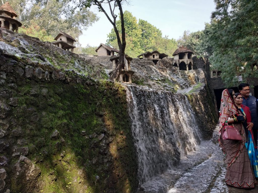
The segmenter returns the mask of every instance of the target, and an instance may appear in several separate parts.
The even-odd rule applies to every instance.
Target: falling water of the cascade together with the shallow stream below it
[[[138,154],[139,193],[251,193],[225,185],[224,155],[213,137],[201,140],[183,94],[127,86],[128,113]]]

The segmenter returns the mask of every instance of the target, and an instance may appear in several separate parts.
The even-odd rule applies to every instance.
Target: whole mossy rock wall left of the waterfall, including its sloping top
[[[0,49],[0,192],[134,192],[125,89],[93,80],[99,65],[20,37],[35,47],[4,35]]]

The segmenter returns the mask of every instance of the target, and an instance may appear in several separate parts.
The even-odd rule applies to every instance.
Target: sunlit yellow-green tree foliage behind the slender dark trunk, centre
[[[120,17],[119,17],[120,18]],[[120,19],[117,21],[117,29],[120,32]],[[125,53],[136,57],[146,51],[158,50],[172,56],[176,50],[176,41],[168,36],[162,37],[162,32],[145,20],[139,19],[131,12],[124,12],[126,48]],[[112,29],[108,34],[107,44],[118,49],[116,34]]]

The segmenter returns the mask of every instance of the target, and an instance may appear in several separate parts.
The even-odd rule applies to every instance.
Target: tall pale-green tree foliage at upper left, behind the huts
[[[5,2],[6,0],[2,0],[1,4]],[[98,17],[87,8],[72,13],[71,4],[75,3],[74,0],[9,0],[8,2],[17,12],[17,19],[23,25],[23,32],[29,32],[36,27],[37,30],[45,31],[46,36],[55,37],[61,30],[78,40],[82,30],[98,20]]]

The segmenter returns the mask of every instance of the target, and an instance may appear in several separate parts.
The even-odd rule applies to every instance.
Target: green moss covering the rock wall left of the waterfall
[[[21,137],[29,144],[29,159],[41,169],[39,181],[46,184],[42,192],[79,192],[84,186],[92,193],[114,189],[132,192],[138,187],[124,87],[105,80],[92,86],[55,82],[35,87],[26,81],[20,84],[15,93],[19,105],[13,108],[12,116],[24,132]],[[40,93],[40,87],[47,88],[46,96],[31,95],[32,89]],[[51,137],[55,129],[59,136]],[[98,139],[102,133],[113,139],[104,150]],[[95,138],[89,137],[94,134]],[[102,160],[106,154],[112,157],[108,163]],[[100,159],[93,164],[95,157]],[[78,176],[79,171],[83,172]],[[118,178],[116,173],[124,177]],[[98,182],[96,176],[101,178]],[[109,189],[107,182],[114,180],[117,183]],[[15,183],[12,180],[11,186]],[[21,191],[22,185],[15,190]]]

